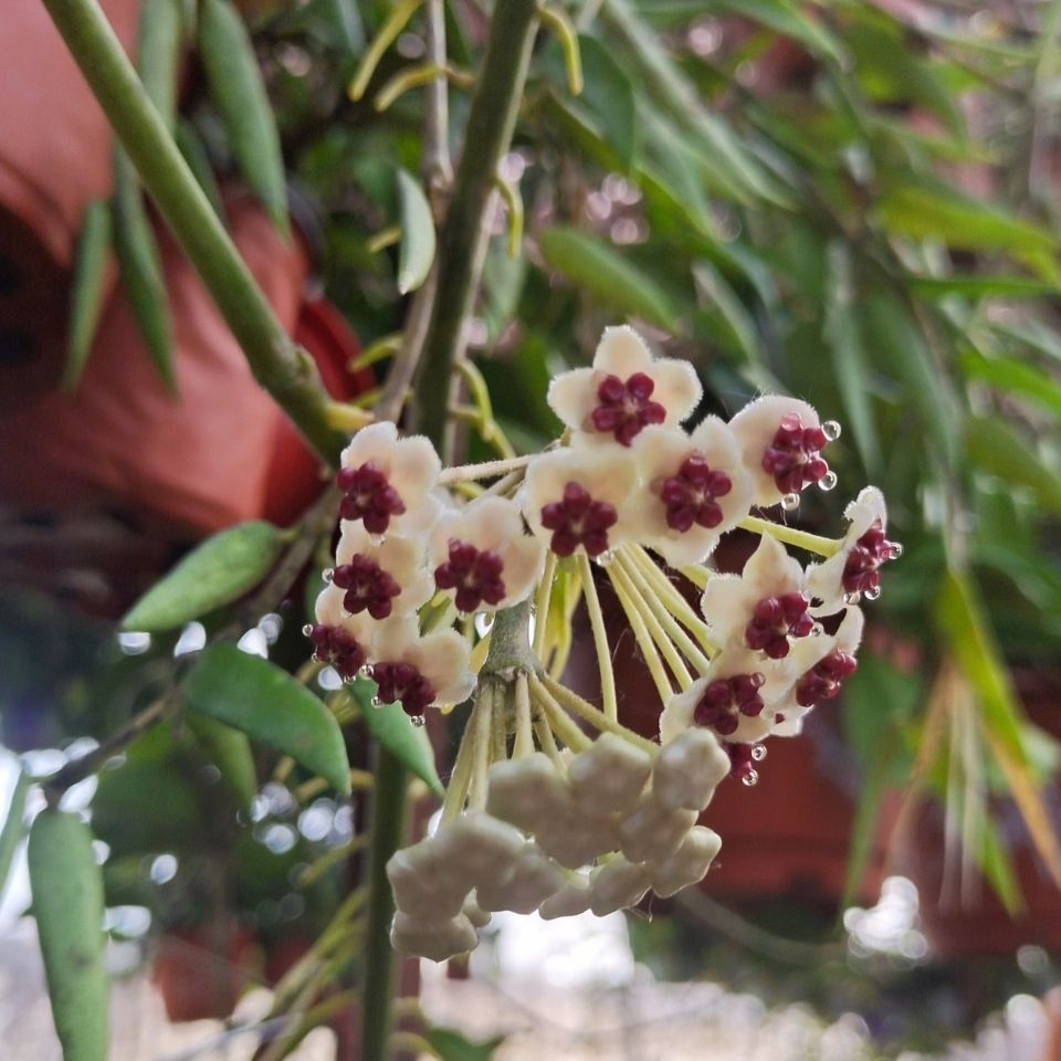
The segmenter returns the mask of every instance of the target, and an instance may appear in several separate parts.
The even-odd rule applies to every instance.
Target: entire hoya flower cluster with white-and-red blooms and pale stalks
[[[690,365],[610,328],[592,367],[553,381],[567,430],[540,454],[443,471],[390,424],[344,453],[317,656],[370,674],[414,721],[473,700],[438,831],[388,866],[398,949],[441,960],[494,911],[603,914],[697,882],[722,842],[700,823],[715,786],[754,785],[763,742],[797,734],[853,673],[860,605],[900,554],[881,493],[858,495],[840,538],[756,514],[836,486],[840,429],[768,396],[687,432],[700,398]],[[758,545],[719,574],[712,553],[738,528]],[[658,742],[623,725],[603,579],[658,691]],[[600,705],[563,683],[579,602]],[[474,643],[476,613],[493,626]]]

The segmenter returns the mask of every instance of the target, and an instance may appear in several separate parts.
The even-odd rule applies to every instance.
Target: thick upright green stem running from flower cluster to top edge
[[[448,402],[438,397],[451,391],[485,251],[494,178],[512,144],[537,28],[537,0],[497,0],[439,241],[439,286],[417,387],[423,396],[420,430],[428,438],[441,439],[445,430]]]

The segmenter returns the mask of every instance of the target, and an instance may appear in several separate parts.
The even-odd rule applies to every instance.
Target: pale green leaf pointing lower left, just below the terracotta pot
[[[126,630],[172,630],[238,600],[269,574],[283,547],[271,523],[240,523],[207,538],[122,620]]]

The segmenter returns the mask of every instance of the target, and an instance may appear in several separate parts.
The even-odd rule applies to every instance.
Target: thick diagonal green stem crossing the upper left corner
[[[97,0],[43,0],[144,187],[239,340],[255,379],[317,453],[333,462],[345,439],[325,416],[312,358],[285,334],[224,231]]]

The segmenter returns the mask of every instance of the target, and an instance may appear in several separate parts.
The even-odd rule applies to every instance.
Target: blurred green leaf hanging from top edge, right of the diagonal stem
[[[203,0],[199,52],[232,154],[251,190],[286,235],[287,187],[280,133],[246,27],[228,0]]]

